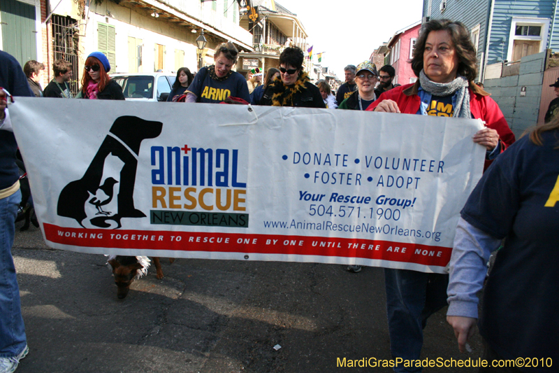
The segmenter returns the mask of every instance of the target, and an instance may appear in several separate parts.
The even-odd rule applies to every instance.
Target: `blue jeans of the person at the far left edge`
[[[21,200],[20,190],[0,199],[0,358],[19,355],[27,344],[12,258],[15,217]]]

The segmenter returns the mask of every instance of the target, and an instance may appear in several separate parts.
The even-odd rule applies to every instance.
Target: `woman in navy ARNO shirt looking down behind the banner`
[[[247,80],[240,73],[231,71],[237,57],[238,50],[233,43],[219,45],[215,50],[215,64],[198,71],[186,91],[186,102],[219,104],[229,96],[250,102]]]

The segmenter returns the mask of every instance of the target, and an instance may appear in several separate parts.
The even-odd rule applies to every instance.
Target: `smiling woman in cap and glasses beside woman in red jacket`
[[[377,66],[370,61],[363,61],[357,66],[355,83],[357,90],[344,99],[338,108],[365,110],[375,99],[375,85],[379,81]]]

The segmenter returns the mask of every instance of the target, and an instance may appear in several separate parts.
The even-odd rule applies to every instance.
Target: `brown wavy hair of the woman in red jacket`
[[[419,37],[415,43],[413,58],[409,61],[412,64],[412,70],[419,77],[419,73],[423,70],[423,52],[425,51],[425,43],[430,31],[445,30],[449,33],[456,53],[458,54],[458,75],[472,83],[477,76],[477,52],[470,40],[470,31],[462,22],[451,20],[431,20],[421,27]]]

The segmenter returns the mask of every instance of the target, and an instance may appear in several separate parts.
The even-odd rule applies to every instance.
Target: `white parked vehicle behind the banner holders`
[[[113,73],[127,101],[167,101],[175,75],[167,73]]]

